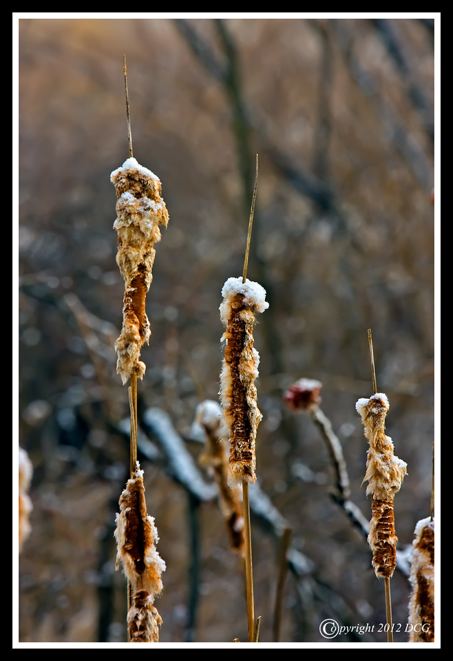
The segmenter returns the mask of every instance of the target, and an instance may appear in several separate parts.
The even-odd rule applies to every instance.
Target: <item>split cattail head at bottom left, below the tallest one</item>
[[[116,569],[121,561],[130,585],[129,638],[131,642],[158,642],[162,619],[154,599],[162,591],[165,562],[156,551],[158,533],[154,518],[147,514],[143,470],[138,462],[120,496],[115,538]]]

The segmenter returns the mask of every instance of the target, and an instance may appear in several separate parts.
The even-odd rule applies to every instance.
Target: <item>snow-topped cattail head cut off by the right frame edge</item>
[[[415,527],[410,560],[409,642],[434,642],[434,519]]]

